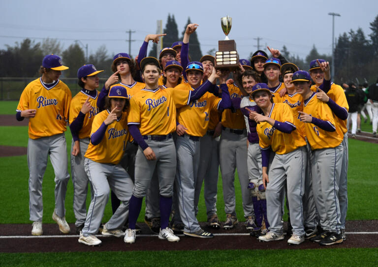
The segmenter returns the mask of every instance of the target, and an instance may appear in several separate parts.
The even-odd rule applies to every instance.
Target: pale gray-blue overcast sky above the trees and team
[[[332,16],[335,17],[335,37],[361,27],[368,37],[369,23],[378,15],[377,0],[13,0],[1,1],[0,49],[13,46],[29,37],[40,42],[57,38],[67,48],[74,40],[88,44],[89,54],[105,44],[109,56],[128,52],[136,56],[144,37],[156,33],[157,20],[165,27],[168,13],[174,14],[178,30],[184,30],[188,17],[197,29],[202,54],[215,48],[224,39],[221,17],[232,17],[230,39],[236,41],[240,58],[266,45],[305,58],[315,44],[320,54],[331,54]],[[176,6],[175,6],[176,5]],[[150,47],[152,45],[150,44]]]

